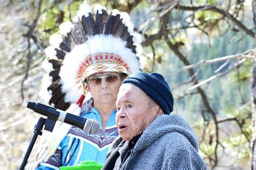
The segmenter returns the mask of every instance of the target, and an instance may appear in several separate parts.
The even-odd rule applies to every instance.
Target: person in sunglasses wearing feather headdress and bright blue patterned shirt
[[[118,136],[118,89],[126,76],[140,70],[141,49],[127,13],[112,10],[108,14],[96,5],[94,15],[83,3],[75,23],[61,24],[59,32],[50,37],[51,46],[45,49],[48,59],[43,63],[48,73],[43,84],[48,93],[41,94],[55,108],[96,119],[101,129],[95,135],[86,134],[60,123],[42,140],[33,164],[39,165],[37,169],[57,169],[86,160],[103,164]]]

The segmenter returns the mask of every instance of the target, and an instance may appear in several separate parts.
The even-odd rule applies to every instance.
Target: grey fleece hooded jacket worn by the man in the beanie
[[[113,141],[107,158],[123,139]],[[125,169],[207,169],[191,126],[178,115],[161,115],[137,141]]]

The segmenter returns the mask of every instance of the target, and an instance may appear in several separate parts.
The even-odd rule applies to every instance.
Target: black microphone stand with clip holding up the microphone
[[[26,150],[25,156],[22,160],[22,164],[21,166],[19,166],[18,170],[23,170],[24,167],[26,166],[26,163],[28,162],[29,155],[32,151],[33,146],[35,145],[38,134],[41,136],[43,133],[42,132],[43,126],[45,125],[44,130],[52,132],[58,116],[59,115],[56,112],[53,112],[51,115],[48,115],[48,119],[45,119],[42,117],[38,119],[37,124],[34,127],[35,130],[33,132],[34,134],[32,136],[32,139],[30,140],[29,147]]]

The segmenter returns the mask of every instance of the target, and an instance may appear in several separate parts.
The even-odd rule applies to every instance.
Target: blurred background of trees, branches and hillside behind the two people
[[[26,104],[44,102],[38,95],[44,49],[83,1],[0,2],[0,169],[17,169],[40,117]],[[87,2],[130,13],[141,35],[144,70],[169,82],[173,112],[193,126],[208,168],[250,169],[253,2]]]

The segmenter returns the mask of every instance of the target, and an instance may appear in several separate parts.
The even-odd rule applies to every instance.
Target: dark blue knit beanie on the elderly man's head
[[[173,97],[171,89],[161,74],[137,72],[127,77],[123,83],[132,83],[142,89],[144,93],[163,109],[164,114],[169,115],[172,112]]]

